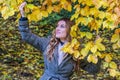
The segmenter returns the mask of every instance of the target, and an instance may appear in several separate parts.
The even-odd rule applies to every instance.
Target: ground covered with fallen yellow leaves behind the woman
[[[8,20],[0,18],[0,80],[38,80],[44,69],[42,55],[21,40],[18,22],[15,21],[15,18]],[[34,23],[31,23],[30,28],[39,36],[46,36],[53,29]],[[120,54],[115,56],[115,62],[120,69]],[[78,75],[74,73],[71,80],[120,80],[120,78],[110,77],[106,70],[101,70],[96,75],[80,70]]]

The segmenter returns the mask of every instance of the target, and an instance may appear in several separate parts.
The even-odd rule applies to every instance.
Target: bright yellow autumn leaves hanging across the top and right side
[[[0,0],[2,17],[17,15],[19,19],[18,6],[23,1]],[[95,64],[101,58],[102,68],[107,69],[110,76],[120,76],[114,62],[114,54],[120,52],[120,0],[37,0],[36,4],[32,3],[34,0],[26,1],[25,11],[30,21],[40,21],[62,9],[74,11],[70,18],[75,21],[70,32],[72,41],[62,50],[79,60],[88,55],[88,62]],[[82,27],[88,30],[82,31]],[[110,38],[106,38],[105,32]]]

